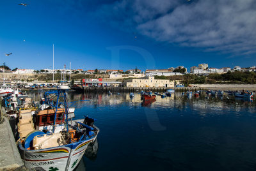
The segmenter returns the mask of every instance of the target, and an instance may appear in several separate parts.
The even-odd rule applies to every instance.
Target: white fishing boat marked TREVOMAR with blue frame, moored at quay
[[[49,94],[56,100],[51,109],[38,110],[34,117],[26,111],[20,114],[20,156],[26,167],[35,170],[74,170],[88,145],[95,142],[99,128],[90,117],[68,120],[65,87]],[[60,104],[65,108],[59,108]]]

